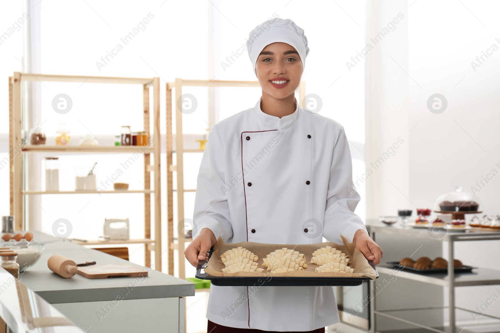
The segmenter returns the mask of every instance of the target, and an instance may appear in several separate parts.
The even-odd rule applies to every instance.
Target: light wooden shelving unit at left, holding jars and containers
[[[58,82],[81,82],[81,83],[112,83],[112,84],[140,84],[142,85],[143,99],[143,130],[149,133],[149,138],[153,139],[152,145],[140,146],[56,146],[56,145],[24,145],[21,136],[23,128],[23,114],[21,85],[24,81],[58,81]],[[127,241],[99,241],[91,240],[87,242],[74,241],[81,245],[109,245],[109,244],[144,244],[144,266],[151,267],[151,251],[154,251],[154,269],[161,271],[161,184],[160,184],[160,117],[159,117],[159,78],[135,78],[135,77],[95,77],[95,76],[74,76],[74,75],[47,75],[14,72],[8,79],[9,86],[9,150],[14,156],[10,159],[10,214],[14,216],[15,230],[25,230],[25,206],[23,196],[45,195],[45,194],[144,194],[144,239],[130,239]],[[153,105],[153,130],[150,131],[149,89],[152,89]],[[51,152],[57,154],[78,154],[78,153],[137,153],[139,149],[144,160],[144,189],[143,190],[108,190],[108,191],[30,191],[25,189],[25,168],[24,154],[30,152]],[[151,164],[150,154],[153,154],[153,164]],[[151,190],[151,174],[154,172],[154,190]],[[151,196],[153,198],[151,198]],[[154,239],[151,239],[151,200],[154,203]]]

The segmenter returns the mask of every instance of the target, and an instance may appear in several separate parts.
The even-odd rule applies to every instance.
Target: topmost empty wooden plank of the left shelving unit
[[[111,77],[111,76],[80,76],[80,75],[49,75],[21,73],[23,81],[55,81],[55,82],[84,82],[84,83],[125,83],[150,84],[151,78],[143,77]]]

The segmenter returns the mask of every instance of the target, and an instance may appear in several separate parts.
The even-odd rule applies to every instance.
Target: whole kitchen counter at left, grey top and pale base
[[[36,231],[33,235],[36,242],[57,239]],[[87,279],[76,274],[64,279],[47,267],[54,254],[76,263],[128,264],[148,270],[148,276]],[[69,241],[47,244],[19,280],[87,333],[183,333],[183,297],[194,295],[193,283]]]

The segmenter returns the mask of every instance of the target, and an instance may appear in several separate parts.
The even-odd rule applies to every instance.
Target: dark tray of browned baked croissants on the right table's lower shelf
[[[399,262],[388,262],[390,266],[397,267],[406,271],[417,273],[448,273],[448,261],[437,257],[431,260],[429,257],[420,257],[417,260],[403,258]],[[473,267],[464,266],[461,261],[453,260],[453,271],[455,273],[471,272]]]

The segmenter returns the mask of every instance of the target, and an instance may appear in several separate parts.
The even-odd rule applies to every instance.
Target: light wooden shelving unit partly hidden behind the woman
[[[184,80],[176,78],[174,82],[166,83],[166,163],[167,163],[167,256],[168,268],[167,273],[174,275],[174,250],[177,250],[177,261],[179,268],[179,278],[185,279],[184,265],[184,250],[185,243],[189,243],[190,239],[177,237],[176,241],[173,237],[173,228],[177,226],[178,221],[184,219],[184,193],[195,192],[195,189],[184,189],[184,172],[183,172],[183,153],[203,152],[201,149],[184,149],[182,137],[182,110],[175,103],[175,148],[173,147],[173,132],[172,132],[172,98],[177,101],[182,95],[183,86],[201,86],[201,87],[260,87],[258,81],[225,81],[225,80]],[[175,90],[175,96],[172,96],[172,89]],[[299,98],[298,102],[302,103],[305,96],[305,82],[300,82],[298,86]],[[300,104],[301,107],[304,107]],[[182,153],[177,153],[182,152]],[[173,164],[172,155],[176,154],[176,164]],[[173,171],[176,171],[177,188],[173,188]],[[172,195],[177,193],[177,221],[173,221],[173,199]]]

